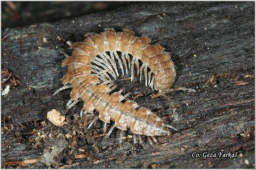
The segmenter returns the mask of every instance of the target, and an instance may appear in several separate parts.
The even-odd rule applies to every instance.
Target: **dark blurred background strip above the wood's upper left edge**
[[[118,10],[142,2],[1,2],[2,29]]]

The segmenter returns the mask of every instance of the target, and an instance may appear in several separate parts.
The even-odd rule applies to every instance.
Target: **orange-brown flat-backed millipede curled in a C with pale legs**
[[[68,65],[68,72],[62,79],[64,87],[56,93],[66,88],[73,88],[70,93],[71,99],[67,103],[67,110],[77,102],[83,101],[84,107],[81,109],[80,116],[83,113],[93,113],[94,110],[99,113],[89,127],[97,119],[100,119],[105,122],[104,133],[106,133],[107,123],[110,123],[110,120],[115,122],[106,137],[110,136],[114,127],[121,129],[120,147],[123,131],[127,128],[133,133],[134,143],[137,143],[135,134],[138,135],[140,144],[142,144],[141,135],[146,135],[150,144],[154,146],[151,140],[157,142],[154,136],[169,134],[166,127],[175,128],[164,124],[160,117],[147,108],[137,109],[139,105],[132,100],[123,103],[122,100],[130,95],[128,93],[123,96],[121,93],[124,89],[110,94],[117,87],[111,77],[114,79],[119,77],[115,58],[123,76],[124,72],[128,74],[128,68],[131,68],[131,81],[134,79],[134,63],[137,66],[137,75],[140,74],[140,81],[144,71],[145,85],[159,91],[171,102],[175,119],[177,119],[177,113],[174,105],[165,93],[178,90],[194,92],[195,90],[170,88],[176,76],[171,57],[168,52],[163,51],[163,47],[158,43],[150,45],[151,39],[145,35],[137,37],[133,31],[128,29],[116,32],[112,28],[105,28],[104,32],[87,33],[86,36],[83,42],[76,42],[70,46],[74,49],[72,55],[66,55],[67,58],[62,63],[62,67]],[[110,55],[106,53],[107,51]],[[121,58],[116,51],[121,52]],[[132,55],[132,59],[129,54]],[[141,66],[139,59],[143,63]],[[153,74],[152,77],[151,74]],[[71,85],[67,85],[67,83]]]

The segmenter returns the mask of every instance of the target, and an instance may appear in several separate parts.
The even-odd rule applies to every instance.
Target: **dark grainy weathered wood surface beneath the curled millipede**
[[[9,36],[2,41],[2,67],[11,70],[23,85],[2,96],[1,162],[41,157],[44,147],[32,147],[32,130],[39,128],[39,122],[50,124],[46,114],[53,108],[64,113],[69,100],[69,90],[52,96],[62,86],[61,78],[67,71],[61,68],[64,56],[60,52],[71,53],[67,41],[82,41],[87,32],[111,27],[119,31],[129,28],[137,35],[151,37],[153,43],[160,43],[175,63],[174,86],[196,88],[198,92],[168,94],[179,114],[180,120],[175,121],[169,102],[162,96],[151,99],[153,92],[144,82],[119,79],[120,87],[131,91],[132,96],[144,94],[135,102],[154,111],[178,131],[173,131],[172,138],[160,137],[155,149],[146,144],[145,149],[139,146],[133,151],[129,137],[123,142],[123,150],[119,149],[119,130],[107,139],[108,149],[103,147],[103,137],[93,142],[78,139],[74,152],[80,154],[78,148],[82,148],[90,159],[67,162],[64,157],[61,165],[72,163],[66,167],[73,168],[254,168],[254,19],[254,2],[159,2],[41,23],[37,27],[3,30],[2,36]],[[47,42],[43,42],[43,38]],[[81,103],[76,105],[66,116],[73,119],[81,106]],[[98,121],[85,135],[99,136],[103,133],[102,127],[103,123]],[[58,129],[50,128],[49,131]],[[239,152],[239,156],[234,159],[191,157],[194,151],[201,154],[230,150]],[[47,166],[38,162],[22,167]]]

